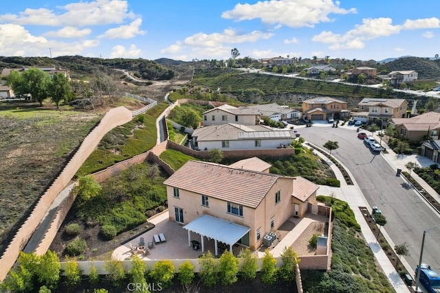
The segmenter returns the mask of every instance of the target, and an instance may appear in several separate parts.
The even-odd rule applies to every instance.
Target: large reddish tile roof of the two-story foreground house
[[[280,177],[226,165],[188,161],[164,184],[256,208]]]

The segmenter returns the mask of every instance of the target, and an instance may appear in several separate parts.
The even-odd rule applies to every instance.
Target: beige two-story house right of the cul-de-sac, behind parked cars
[[[384,122],[388,122],[392,118],[406,117],[408,102],[406,102],[406,99],[374,99],[366,97],[360,101],[358,108],[361,113],[368,113],[367,121],[381,119]]]

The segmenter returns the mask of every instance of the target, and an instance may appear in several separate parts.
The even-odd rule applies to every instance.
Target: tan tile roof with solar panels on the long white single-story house
[[[289,130],[274,130],[263,125],[221,124],[204,126],[192,132],[197,141],[234,141],[239,139],[281,139],[293,138]]]

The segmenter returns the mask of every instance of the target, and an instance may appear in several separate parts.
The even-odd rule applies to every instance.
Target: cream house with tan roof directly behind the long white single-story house
[[[256,108],[230,106],[224,104],[203,113],[203,126],[236,123],[243,125],[260,124],[261,113]]]

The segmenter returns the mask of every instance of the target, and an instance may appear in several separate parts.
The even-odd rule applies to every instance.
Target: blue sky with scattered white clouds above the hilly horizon
[[[440,54],[438,0],[15,0],[1,56],[383,60]]]

